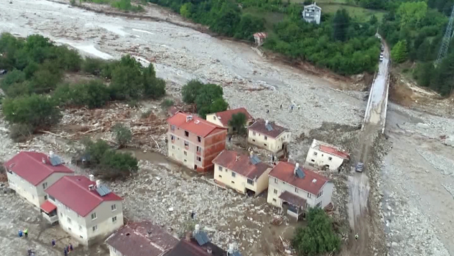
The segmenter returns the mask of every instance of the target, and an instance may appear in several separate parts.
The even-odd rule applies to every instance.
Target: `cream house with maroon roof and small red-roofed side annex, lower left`
[[[52,223],[57,216],[61,228],[82,244],[123,226],[122,197],[94,176],[64,176],[45,192],[49,199],[41,206],[43,217]]]

